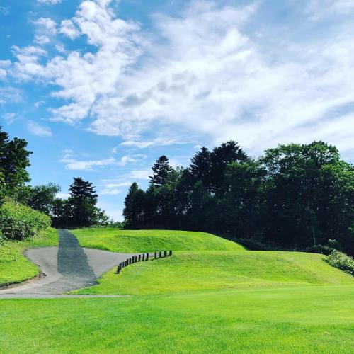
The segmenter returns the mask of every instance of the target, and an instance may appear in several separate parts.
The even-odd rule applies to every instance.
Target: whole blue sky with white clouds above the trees
[[[0,0],[0,120],[32,183],[121,219],[154,160],[322,139],[354,161],[353,0]]]

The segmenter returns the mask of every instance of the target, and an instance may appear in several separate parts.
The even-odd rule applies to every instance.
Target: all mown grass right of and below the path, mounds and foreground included
[[[1,353],[352,353],[354,278],[314,253],[247,251],[212,234],[74,230],[81,246],[173,249],[72,293],[1,299]]]

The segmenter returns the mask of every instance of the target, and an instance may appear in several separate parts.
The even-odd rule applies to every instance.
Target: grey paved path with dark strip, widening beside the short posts
[[[67,230],[59,230],[59,247],[42,247],[25,252],[25,256],[38,265],[45,276],[0,290],[0,299],[82,297],[62,294],[95,285],[96,279],[103,273],[134,254],[85,249],[79,245],[79,241],[73,234]]]

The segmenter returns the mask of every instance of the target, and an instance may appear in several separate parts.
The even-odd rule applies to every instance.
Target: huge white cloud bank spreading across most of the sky
[[[151,32],[116,18],[109,4],[82,1],[67,22],[96,50],[78,48],[46,64],[42,54],[16,55],[19,77],[55,84],[61,89],[53,96],[69,101],[52,110],[55,120],[90,118],[91,131],[141,148],[159,144],[142,141],[145,130],[159,135],[161,128],[178,127],[215,143],[237,139],[258,154],[278,142],[324,139],[326,131],[314,127],[325,118],[349,135],[337,134],[331,143],[354,139],[353,123],[341,113],[354,102],[350,23],[301,42],[279,32],[262,31],[260,38],[244,26],[256,5],[193,1],[179,16],[154,16],[159,35],[151,39]],[[308,16],[316,4],[336,13],[353,8],[353,1],[312,1]]]

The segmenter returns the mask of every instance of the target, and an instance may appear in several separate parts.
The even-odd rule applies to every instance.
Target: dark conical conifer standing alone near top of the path
[[[92,183],[81,177],[74,178],[69,187],[70,198],[67,201],[72,208],[72,224],[85,227],[95,224],[100,219],[101,210],[96,207],[98,195]]]

